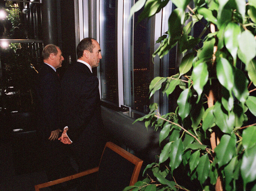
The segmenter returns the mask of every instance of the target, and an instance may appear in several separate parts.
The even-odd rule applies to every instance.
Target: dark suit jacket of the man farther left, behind
[[[49,138],[60,126],[60,80],[56,72],[43,63],[38,71],[36,95],[38,102],[38,132]]]

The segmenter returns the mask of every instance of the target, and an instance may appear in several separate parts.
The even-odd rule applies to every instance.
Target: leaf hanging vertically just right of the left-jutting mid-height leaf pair
[[[179,95],[179,98],[177,100],[177,104],[179,106],[178,114],[184,120],[185,117],[188,116],[191,110],[191,104],[189,102],[189,99],[191,97],[190,89],[185,89],[181,92]]]

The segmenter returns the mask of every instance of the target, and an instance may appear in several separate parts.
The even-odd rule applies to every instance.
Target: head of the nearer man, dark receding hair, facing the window
[[[77,57],[87,62],[92,68],[99,65],[101,48],[94,38],[84,38],[77,45]]]

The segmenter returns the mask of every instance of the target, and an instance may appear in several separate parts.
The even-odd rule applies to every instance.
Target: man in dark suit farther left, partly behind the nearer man
[[[56,68],[62,66],[64,60],[59,47],[48,44],[42,51],[44,63],[38,71],[36,83],[36,95],[38,101],[38,125],[40,153],[42,154],[40,164],[46,170],[48,180],[62,176],[63,157],[59,138],[60,129],[60,80]],[[65,160],[66,161],[66,160]],[[64,162],[65,162],[64,161]],[[56,190],[56,189],[54,189]]]

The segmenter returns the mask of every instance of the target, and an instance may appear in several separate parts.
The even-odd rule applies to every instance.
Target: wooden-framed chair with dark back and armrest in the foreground
[[[35,190],[39,191],[40,188],[50,187],[94,172],[98,172],[95,190],[123,190],[126,186],[137,182],[142,163],[143,161],[133,154],[112,142],[107,142],[98,167],[35,185]]]

